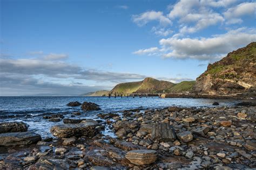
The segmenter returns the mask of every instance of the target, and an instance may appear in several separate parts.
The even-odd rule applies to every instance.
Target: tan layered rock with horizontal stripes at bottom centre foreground
[[[157,160],[157,152],[154,150],[134,150],[126,153],[125,158],[132,164],[146,165]]]

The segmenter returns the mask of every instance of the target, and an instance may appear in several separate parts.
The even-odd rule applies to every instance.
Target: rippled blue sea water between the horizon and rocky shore
[[[90,101],[99,105],[102,110],[83,112],[78,107],[66,106],[70,101]],[[99,113],[115,112],[122,114],[123,110],[132,108],[164,108],[169,106],[185,106],[185,107],[213,107],[212,103],[217,101],[219,106],[230,106],[241,102],[241,100],[228,99],[188,99],[188,98],[165,98],[158,97],[150,98],[107,98],[107,97],[0,97],[0,122],[4,121],[24,121],[29,124],[30,131],[36,131],[42,137],[51,136],[50,128],[56,124],[43,119],[44,115],[61,113],[65,118],[71,118],[72,112],[81,112],[81,115],[76,115],[73,119],[100,119],[97,117]],[[102,133],[113,136],[113,132],[106,127]]]

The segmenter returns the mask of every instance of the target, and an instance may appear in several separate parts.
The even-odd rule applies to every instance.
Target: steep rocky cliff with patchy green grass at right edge
[[[208,94],[234,94],[254,91],[256,85],[256,42],[228,53],[209,64],[196,81],[194,91]]]

